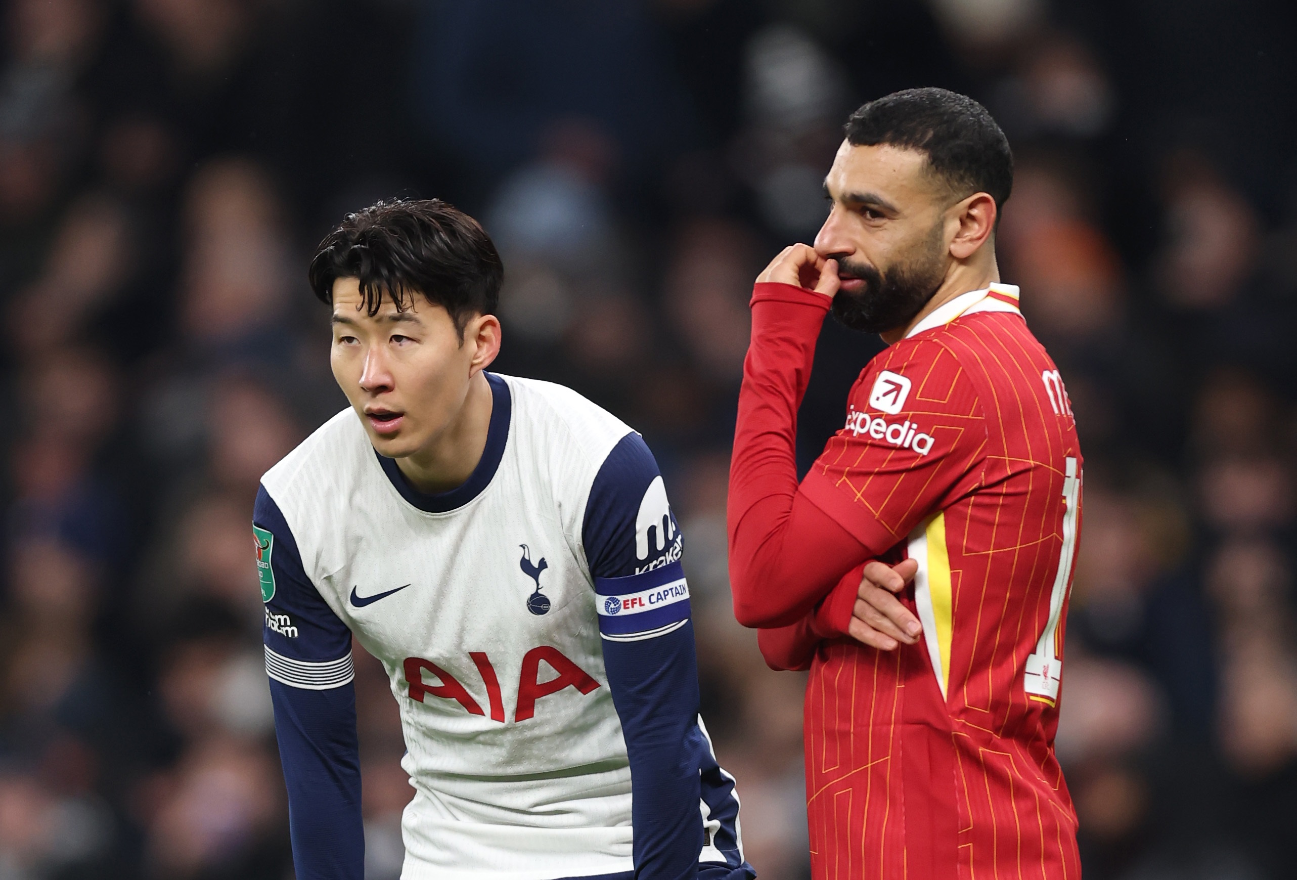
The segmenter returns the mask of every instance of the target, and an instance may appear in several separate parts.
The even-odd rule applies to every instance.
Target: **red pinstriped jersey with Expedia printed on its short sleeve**
[[[1082,457],[1017,300],[965,293],[879,353],[800,487],[869,550],[918,559],[923,624],[891,653],[816,653],[817,879],[1080,877],[1053,739]]]

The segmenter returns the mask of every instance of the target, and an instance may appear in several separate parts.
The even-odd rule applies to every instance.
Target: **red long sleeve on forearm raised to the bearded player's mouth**
[[[757,284],[752,293],[728,505],[734,617],[746,627],[798,626],[844,571],[869,556],[798,491],[798,406],[829,304],[790,284]]]

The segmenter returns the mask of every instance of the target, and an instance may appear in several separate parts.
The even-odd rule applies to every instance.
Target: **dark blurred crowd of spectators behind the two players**
[[[344,405],[314,244],[440,196],[506,261],[498,369],[643,432],[750,861],[807,876],[798,674],[729,607],[747,299],[846,114],[983,101],[1005,282],[1086,454],[1058,753],[1092,880],[1293,876],[1297,6],[1284,0],[9,0],[0,880],[292,875],[249,533]],[[808,465],[879,348],[827,324]],[[358,663],[367,876],[411,790]]]

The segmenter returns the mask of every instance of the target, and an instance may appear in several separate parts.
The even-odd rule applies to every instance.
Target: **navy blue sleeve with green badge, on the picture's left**
[[[298,880],[363,880],[351,633],[306,576],[293,532],[265,487],[253,537],[293,867]]]

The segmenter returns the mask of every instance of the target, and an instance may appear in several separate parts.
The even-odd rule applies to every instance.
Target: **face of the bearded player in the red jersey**
[[[927,170],[925,153],[846,140],[825,189],[833,209],[815,248],[838,261],[834,315],[866,332],[904,327],[946,278],[949,192]]]

